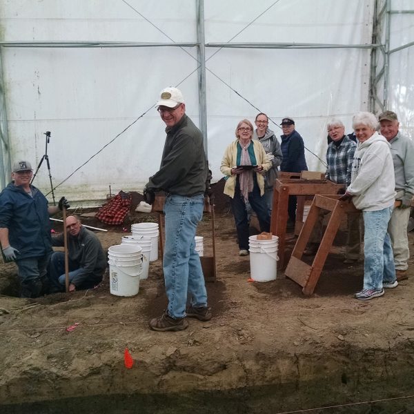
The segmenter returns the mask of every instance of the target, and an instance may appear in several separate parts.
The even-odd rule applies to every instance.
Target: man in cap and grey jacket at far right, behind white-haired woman
[[[395,172],[395,199],[401,201],[395,206],[388,223],[388,233],[394,252],[397,280],[407,279],[408,248],[407,226],[410,207],[414,197],[414,142],[399,132],[400,122],[391,110],[382,112],[378,117],[381,135],[391,144]]]

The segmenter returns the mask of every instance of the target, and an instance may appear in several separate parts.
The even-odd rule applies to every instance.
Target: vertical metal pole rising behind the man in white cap
[[[203,133],[203,144],[208,159],[207,141],[207,100],[206,100],[206,46],[204,41],[204,0],[197,0],[197,59],[199,82],[199,115],[200,130]]]

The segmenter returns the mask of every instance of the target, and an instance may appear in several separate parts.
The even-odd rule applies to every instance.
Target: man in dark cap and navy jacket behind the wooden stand
[[[305,159],[304,140],[300,136],[299,132],[295,130],[295,121],[290,117],[284,117],[280,125],[282,125],[283,131],[283,135],[280,136],[282,139],[280,148],[283,155],[280,170],[288,172],[301,172],[308,170]],[[290,219],[290,223],[288,222],[289,226],[295,226],[296,205],[296,196],[290,195],[288,201],[288,215]]]

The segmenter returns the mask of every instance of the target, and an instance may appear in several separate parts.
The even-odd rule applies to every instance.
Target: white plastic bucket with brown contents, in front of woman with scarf
[[[278,237],[271,240],[257,240],[257,236],[248,238],[250,252],[250,277],[255,282],[269,282],[277,275]]]

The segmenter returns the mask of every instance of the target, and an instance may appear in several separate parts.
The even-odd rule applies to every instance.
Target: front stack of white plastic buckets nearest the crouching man
[[[116,296],[137,295],[142,273],[141,247],[122,244],[110,246],[108,258],[110,293]]]

